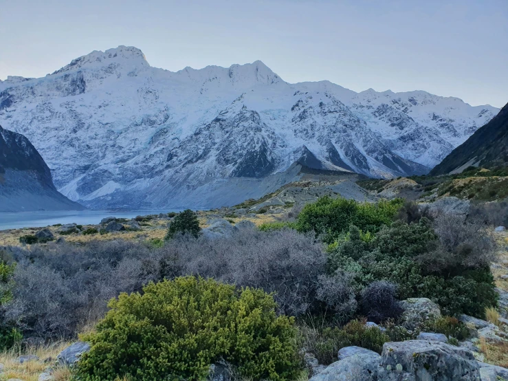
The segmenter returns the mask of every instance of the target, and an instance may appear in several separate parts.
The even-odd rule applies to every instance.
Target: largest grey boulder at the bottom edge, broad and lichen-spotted
[[[473,353],[444,342],[408,340],[386,342],[378,381],[480,381]]]

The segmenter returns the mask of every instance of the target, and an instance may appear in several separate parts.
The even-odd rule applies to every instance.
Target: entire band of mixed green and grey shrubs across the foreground
[[[380,351],[386,341],[415,338],[417,330],[397,325],[404,298],[483,318],[497,297],[491,212],[431,216],[401,199],[323,197],[294,222],[228,236],[201,235],[186,210],[166,241],[12,249],[0,267],[3,342],[20,331],[52,340],[95,327],[84,337],[93,348],[78,367],[82,380],[197,379],[220,358],[248,378],[294,379],[295,345],[329,363],[347,345]],[[298,334],[286,316],[296,317]],[[427,324],[419,329],[450,340],[467,334],[454,318]]]

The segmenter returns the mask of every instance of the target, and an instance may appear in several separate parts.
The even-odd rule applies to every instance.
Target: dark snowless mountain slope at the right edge
[[[444,175],[467,166],[508,166],[508,104],[435,166],[431,174]]]

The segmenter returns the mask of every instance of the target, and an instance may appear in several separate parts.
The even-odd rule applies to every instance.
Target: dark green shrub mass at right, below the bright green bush
[[[399,286],[399,299],[426,297],[439,303],[445,314],[483,318],[485,307],[497,303],[494,279],[488,266],[474,261],[461,264],[455,261],[455,256],[450,256],[450,261],[454,260],[452,270],[446,263],[433,270],[426,262],[421,262],[421,258],[437,248],[444,252],[454,250],[452,245],[449,249],[441,245],[426,218],[410,225],[397,221],[382,228],[370,242],[362,240],[360,230],[353,226],[349,239],[330,246],[329,271],[351,273],[357,293],[373,281],[390,281]],[[441,257],[446,258],[445,255]]]

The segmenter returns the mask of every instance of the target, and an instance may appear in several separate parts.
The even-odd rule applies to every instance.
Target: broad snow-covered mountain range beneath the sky
[[[295,165],[426,173],[498,111],[289,84],[261,61],[168,72],[124,46],[0,81],[0,123],[30,138],[63,194],[95,208],[233,204],[291,181]]]

